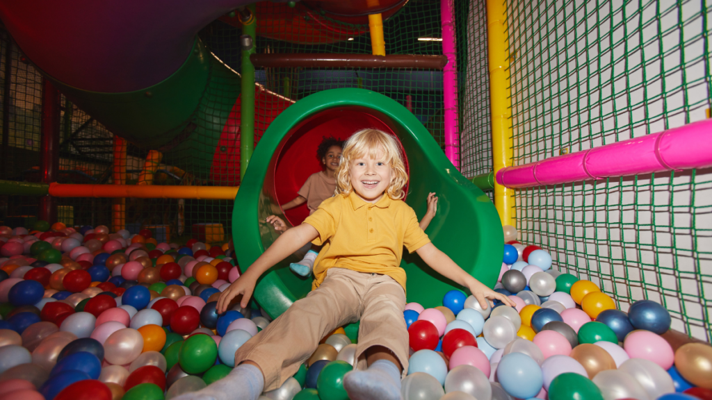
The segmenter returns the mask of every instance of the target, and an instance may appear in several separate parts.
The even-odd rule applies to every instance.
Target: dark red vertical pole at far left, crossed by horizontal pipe
[[[42,80],[42,125],[40,139],[40,174],[42,182],[57,181],[59,172],[59,91],[49,80]],[[39,205],[39,219],[49,223],[57,222],[57,202],[50,196],[42,196]]]

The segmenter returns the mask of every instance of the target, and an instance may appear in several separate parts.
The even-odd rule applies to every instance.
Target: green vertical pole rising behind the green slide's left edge
[[[243,21],[242,37],[242,94],[240,102],[240,181],[245,176],[255,143],[255,67],[250,56],[255,53],[255,4],[246,7],[249,19]],[[245,13],[246,14],[246,13]]]

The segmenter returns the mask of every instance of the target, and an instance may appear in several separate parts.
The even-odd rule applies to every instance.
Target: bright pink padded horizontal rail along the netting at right
[[[497,172],[497,182],[525,188],[705,167],[712,167],[712,120],[506,167]]]

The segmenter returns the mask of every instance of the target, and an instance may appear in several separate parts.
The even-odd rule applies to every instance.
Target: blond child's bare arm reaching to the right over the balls
[[[483,285],[479,280],[473,278],[472,275],[466,273],[445,253],[439,251],[433,243],[428,243],[419,248],[416,253],[418,253],[418,256],[420,256],[430,268],[433,268],[440,275],[469,288],[483,309],[487,308],[487,299],[502,300],[504,304],[514,307],[514,302],[507,298],[506,295],[495,292]]]

